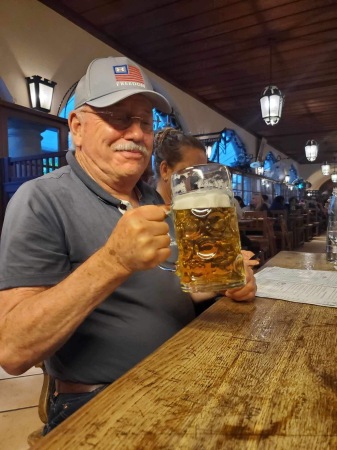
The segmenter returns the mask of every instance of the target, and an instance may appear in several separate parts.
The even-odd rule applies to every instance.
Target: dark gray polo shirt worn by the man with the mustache
[[[9,202],[0,289],[59,283],[104,245],[120,219],[121,201],[97,185],[70,151],[67,161],[68,166],[22,185]],[[146,183],[137,186],[141,204],[162,203]],[[46,362],[48,371],[63,380],[110,383],[194,316],[191,298],[174,273],[136,272]]]

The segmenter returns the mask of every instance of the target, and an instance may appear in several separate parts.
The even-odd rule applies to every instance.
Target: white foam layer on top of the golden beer
[[[173,199],[173,209],[229,208],[230,198],[217,189],[210,191],[189,192],[177,195]]]

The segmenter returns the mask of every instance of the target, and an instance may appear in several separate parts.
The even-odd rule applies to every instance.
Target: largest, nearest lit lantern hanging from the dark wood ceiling
[[[267,125],[276,125],[282,115],[284,95],[272,83],[272,40],[269,40],[269,86],[264,88],[260,97],[262,119]]]

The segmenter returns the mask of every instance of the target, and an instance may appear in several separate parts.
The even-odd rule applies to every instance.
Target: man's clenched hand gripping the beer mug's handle
[[[127,211],[105,248],[129,274],[152,269],[170,256],[165,206],[147,205]]]

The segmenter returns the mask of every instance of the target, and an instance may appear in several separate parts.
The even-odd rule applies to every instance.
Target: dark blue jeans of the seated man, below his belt
[[[108,385],[104,385],[92,392],[85,392],[83,394],[52,394],[50,397],[48,422],[44,426],[43,436],[57,427],[57,425],[71,416],[107,386]]]

